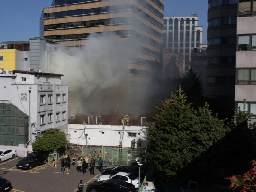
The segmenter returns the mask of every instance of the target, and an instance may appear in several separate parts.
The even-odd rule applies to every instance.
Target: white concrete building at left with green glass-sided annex
[[[61,76],[0,70],[0,145],[24,156],[41,133],[67,129],[68,86],[61,84]]]

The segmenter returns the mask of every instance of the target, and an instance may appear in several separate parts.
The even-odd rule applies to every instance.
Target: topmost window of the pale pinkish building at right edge
[[[239,17],[256,16],[255,0],[239,0]]]

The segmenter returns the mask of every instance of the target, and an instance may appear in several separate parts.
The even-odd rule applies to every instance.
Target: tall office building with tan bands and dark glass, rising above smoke
[[[43,9],[40,36],[65,46],[86,45],[89,34],[106,31],[135,39],[140,52],[128,63],[129,80],[146,82],[162,69],[163,7],[164,0],[53,0]]]

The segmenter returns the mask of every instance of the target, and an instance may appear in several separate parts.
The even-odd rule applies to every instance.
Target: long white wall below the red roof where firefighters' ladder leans
[[[126,126],[123,146],[131,147],[131,141],[133,139],[142,140],[142,148],[147,146],[147,135],[143,131],[146,127],[142,126]],[[120,142],[120,131],[122,126],[119,125],[78,125],[68,124],[67,138],[72,144],[86,145],[85,134],[87,133],[87,145],[96,146],[118,146]],[[136,137],[129,137],[128,133],[136,133]],[[137,144],[135,145],[137,147]]]

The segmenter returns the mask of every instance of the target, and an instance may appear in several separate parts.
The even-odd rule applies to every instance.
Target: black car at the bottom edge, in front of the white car
[[[88,184],[86,192],[135,192],[135,187],[119,179],[108,179]]]

